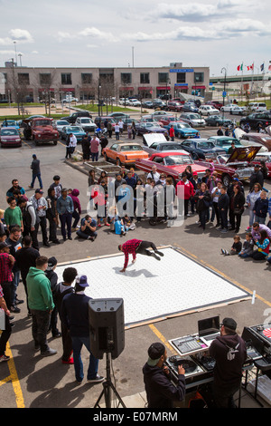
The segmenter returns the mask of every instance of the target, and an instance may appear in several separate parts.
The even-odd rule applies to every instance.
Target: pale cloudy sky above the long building
[[[210,76],[271,61],[270,0],[0,0],[0,10],[0,66],[15,50],[29,67],[180,62]]]

